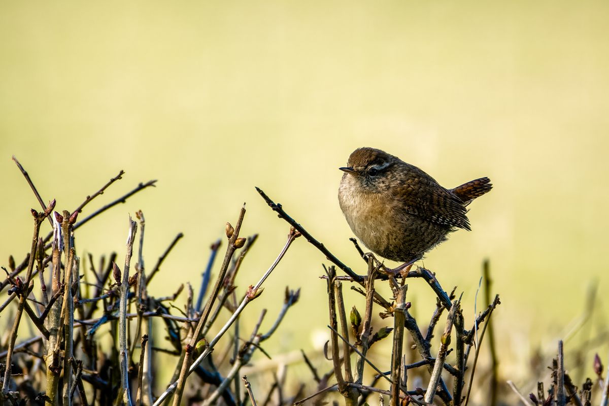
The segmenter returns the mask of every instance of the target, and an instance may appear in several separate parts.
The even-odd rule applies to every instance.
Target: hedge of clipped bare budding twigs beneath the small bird
[[[135,213],[135,220],[128,219],[124,262],[116,254],[97,259],[87,254],[81,258],[74,248],[77,229],[132,195],[155,186],[156,181],[140,183],[128,194],[82,218],[89,203],[121,179],[124,172],[86,196],[72,211],[58,211],[55,200],[45,203],[26,170],[13,159],[41,209],[32,209],[29,254],[20,262],[10,257],[8,268],[2,267],[7,276],[0,282],[0,292],[5,294],[0,312],[4,320],[10,321],[0,354],[5,360],[0,364],[3,404],[468,405],[476,402],[472,400],[473,388],[483,382],[476,379],[483,342],[490,354],[490,367],[484,371],[488,401],[483,404],[500,404],[499,354],[491,324],[500,302],[498,295],[491,295],[488,262],[482,289],[484,308],[475,320],[468,321],[456,288],[447,293],[431,271],[408,268],[394,276],[353,240],[363,260],[360,268],[367,270],[359,275],[258,189],[270,208],[290,225],[286,243],[269,268],[259,275],[258,282],[238,295],[235,287],[241,276],[239,270],[256,242],[256,235],[240,235],[244,206],[234,226],[227,223],[225,239],[211,245],[200,285],[186,283],[173,295],[156,296],[149,290],[150,281],[161,271],[182,234],[169,243],[152,268],[144,266],[146,222],[142,211]],[[45,222],[51,231],[43,236]],[[262,329],[267,310],[259,315],[252,331],[241,331],[239,320],[245,307],[262,294],[264,281],[300,236],[329,261],[322,276],[329,321],[319,320],[322,326],[328,324],[330,339],[323,351],[328,369],[320,373],[320,366],[311,360],[312,354],[302,352],[301,362],[311,372],[311,378],[298,377],[297,384],[288,384],[274,376],[270,380],[256,379],[259,385],[252,385],[242,370],[255,363],[256,352],[267,357],[276,355],[269,354],[264,343],[278,329],[287,327],[281,322],[297,303],[300,289],[286,288],[278,298],[281,306],[268,329]],[[224,257],[214,266],[223,246]],[[341,274],[337,275],[337,271]],[[437,305],[424,324],[410,313],[406,284],[409,278],[423,279],[429,285],[429,295],[436,298]],[[379,293],[379,284],[388,285],[391,294]],[[360,293],[361,301],[346,303],[344,285]],[[186,296],[183,308],[172,304],[178,296]],[[389,326],[375,329],[375,320],[382,319],[390,321]],[[106,332],[101,326],[109,329]],[[229,330],[231,334],[227,334]],[[433,341],[434,335],[440,340]],[[102,350],[107,347],[100,345],[104,340],[111,343],[109,349]],[[382,340],[391,341],[390,356],[384,364],[373,362],[369,356],[370,348]],[[438,348],[433,348],[432,343],[436,342]],[[160,354],[175,360],[167,382],[161,382],[157,373]],[[407,354],[417,354],[418,360],[407,362]],[[601,405],[607,406],[608,385],[602,379],[598,357],[597,383],[588,379],[581,388],[572,383],[564,358],[561,341],[551,365],[552,380],[547,391],[539,383],[537,393],[527,397],[510,382],[513,399],[534,405],[590,405],[596,387],[600,389],[597,397]],[[412,379],[413,376],[423,376],[425,385],[417,385],[421,380]],[[267,385],[262,385],[265,380]]]

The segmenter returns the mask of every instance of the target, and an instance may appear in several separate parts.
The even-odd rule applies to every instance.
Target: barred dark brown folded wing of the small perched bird
[[[463,201],[423,170],[413,168],[394,189],[394,198],[403,201],[404,212],[435,224],[471,230]]]

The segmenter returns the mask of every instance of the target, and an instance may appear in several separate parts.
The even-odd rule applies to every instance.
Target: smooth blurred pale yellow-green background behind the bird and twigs
[[[127,214],[142,209],[147,267],[185,233],[157,295],[184,281],[197,292],[209,244],[244,201],[244,234],[260,238],[240,289],[258,280],[288,228],[254,186],[363,273],[337,167],[377,147],[446,187],[495,184],[470,206],[473,231],[423,263],[445,289],[465,291],[473,314],[490,258],[498,340],[512,354],[502,371],[513,378],[533,348],[554,351],[590,284],[609,288],[608,12],[603,1],[2,2],[0,262],[29,249],[38,208],[15,154],[58,209],[124,169],[83,215],[158,179],[77,231],[81,254],[121,257]],[[255,303],[277,309],[286,284],[302,287],[290,310],[298,323],[281,327],[275,352],[326,334],[324,261],[297,240]],[[434,299],[410,285],[424,325]]]

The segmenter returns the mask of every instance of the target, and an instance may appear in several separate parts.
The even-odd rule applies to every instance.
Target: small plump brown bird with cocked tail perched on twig
[[[376,254],[404,262],[421,259],[457,228],[471,230],[465,207],[491,190],[488,178],[454,189],[423,170],[373,148],[356,149],[340,180],[339,203],[353,233]]]

